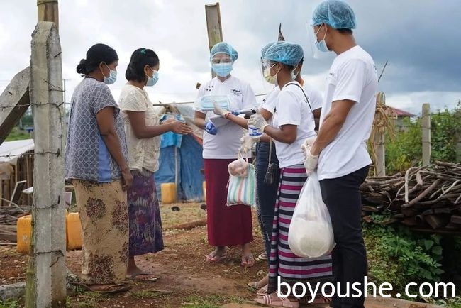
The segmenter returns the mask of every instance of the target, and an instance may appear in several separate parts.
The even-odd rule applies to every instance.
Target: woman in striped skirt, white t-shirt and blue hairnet
[[[264,63],[266,73],[277,76],[277,84],[280,87],[272,126],[267,124],[259,113],[248,121],[274,140],[281,168],[272,228],[268,294],[255,299],[260,304],[272,307],[299,307],[299,300],[296,297],[279,297],[277,294],[279,280],[286,282],[291,289],[297,282],[304,284],[306,289],[306,283],[311,283],[313,290],[316,288],[316,283],[322,284],[332,280],[331,255],[315,259],[299,258],[291,252],[288,245],[291,217],[301,188],[308,177],[304,168],[301,145],[306,139],[316,137],[309,99],[301,85],[294,82],[299,73],[297,65],[302,59],[303,50],[297,44],[277,42],[267,50]],[[318,290],[321,290],[321,285]],[[301,294],[301,290],[296,291],[296,294]],[[311,303],[323,302],[328,302],[328,299],[317,295]]]

